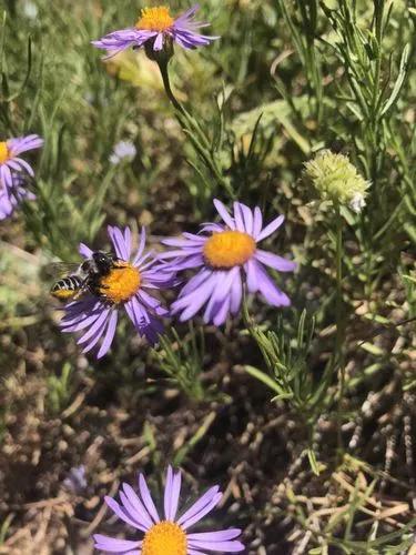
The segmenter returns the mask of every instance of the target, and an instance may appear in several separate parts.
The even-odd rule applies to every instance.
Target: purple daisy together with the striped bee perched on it
[[[83,345],[84,353],[101,341],[98,359],[111,347],[120,311],[128,313],[140,335],[152,344],[158,341],[158,334],[163,331],[161,319],[168,315],[168,310],[150,291],[162,290],[172,282],[172,275],[160,270],[154,254],[144,251],[144,228],[135,253],[130,228],[122,232],[109,226],[108,233],[114,254],[92,251],[81,243],[80,253],[85,259],[80,266],[82,278],[79,273],[69,275],[52,289],[59,299],[65,299],[64,293],[75,290],[75,300],[68,295],[70,302],[64,306],[60,326],[67,333],[82,332],[78,343]]]

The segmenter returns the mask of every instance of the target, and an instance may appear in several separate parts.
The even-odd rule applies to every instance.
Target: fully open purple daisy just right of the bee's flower
[[[284,216],[280,215],[263,228],[258,206],[252,211],[234,202],[234,214],[230,215],[219,200],[214,200],[214,205],[224,224],[207,223],[201,230],[207,234],[183,233],[181,239],[163,241],[175,248],[160,255],[161,259],[174,259],[166,264],[170,271],[200,269],[182,289],[171,313],[180,313],[180,320],[185,321],[206,304],[205,323],[221,325],[230,313],[240,311],[243,284],[250,293],[260,292],[273,306],[288,306],[288,296],[274,284],[264,266],[293,272],[295,262],[257,249],[257,243],[282,225]]]

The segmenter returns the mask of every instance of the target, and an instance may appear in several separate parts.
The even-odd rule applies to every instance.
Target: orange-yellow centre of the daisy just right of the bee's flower
[[[213,268],[233,268],[247,262],[255,252],[255,241],[242,231],[213,233],[204,244],[204,256]]]

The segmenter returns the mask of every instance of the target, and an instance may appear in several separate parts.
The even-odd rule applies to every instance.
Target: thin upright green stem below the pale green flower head
[[[345,391],[345,361],[344,361],[344,341],[345,341],[345,314],[343,303],[343,218],[339,211],[339,204],[335,209],[336,218],[336,340],[335,340],[335,367],[338,367],[339,395],[337,407],[337,436],[338,452],[343,453],[342,424],[343,424],[343,400]]]

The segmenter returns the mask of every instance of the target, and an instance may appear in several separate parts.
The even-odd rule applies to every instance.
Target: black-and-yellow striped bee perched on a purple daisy
[[[52,285],[51,295],[60,301],[74,301],[85,293],[105,297],[102,293],[105,285],[101,283],[101,280],[112,270],[122,268],[116,264],[118,260],[111,253],[95,251],[81,264],[54,264],[57,270],[65,271],[67,275]]]

